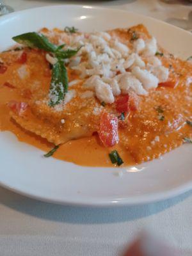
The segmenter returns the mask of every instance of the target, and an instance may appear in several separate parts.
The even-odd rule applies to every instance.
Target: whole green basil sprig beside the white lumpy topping
[[[74,27],[73,27],[74,28]],[[52,78],[49,90],[49,106],[54,107],[60,104],[68,92],[67,69],[65,68],[64,60],[74,56],[81,47],[77,49],[63,50],[65,44],[54,45],[47,39],[46,36],[29,32],[22,35],[14,36],[13,40],[19,44],[26,45],[31,48],[42,49],[47,52],[52,52],[54,58],[58,61],[52,66]]]

